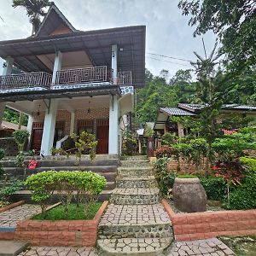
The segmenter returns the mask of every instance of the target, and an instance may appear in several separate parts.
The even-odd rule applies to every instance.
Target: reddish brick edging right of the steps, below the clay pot
[[[161,201],[177,241],[207,239],[216,236],[256,235],[256,210],[193,212],[175,214],[168,202]]]

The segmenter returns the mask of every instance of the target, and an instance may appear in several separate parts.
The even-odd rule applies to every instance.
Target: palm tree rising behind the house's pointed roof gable
[[[44,8],[50,6],[49,0],[13,0],[13,7],[18,6],[26,9],[26,15],[29,17],[29,22],[32,23],[32,35],[38,32],[41,24],[40,17],[45,16]]]

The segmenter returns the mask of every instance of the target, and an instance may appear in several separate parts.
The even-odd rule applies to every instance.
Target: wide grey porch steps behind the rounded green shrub
[[[10,179],[23,179],[24,169],[17,168],[15,166],[15,160],[3,160],[4,172]],[[38,166],[36,169],[26,169],[26,177],[32,173],[44,172],[49,170],[55,171],[91,171],[96,172],[107,179],[107,186],[99,195],[100,201],[105,201],[109,199],[112,190],[115,188],[115,177],[117,175],[117,168],[119,166],[119,159],[117,156],[112,155],[96,155],[96,159],[90,161],[88,158],[83,158],[78,165],[78,160],[73,157],[64,158],[44,158],[38,161]],[[1,185],[1,184],[0,184]],[[13,195],[12,200],[20,201],[25,200],[31,202],[31,192],[29,190],[20,190]],[[52,202],[57,202],[57,195],[53,195]]]

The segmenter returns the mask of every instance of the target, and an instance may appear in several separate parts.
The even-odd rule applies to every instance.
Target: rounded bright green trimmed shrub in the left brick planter
[[[65,211],[68,212],[74,192],[77,190],[76,199],[78,203],[84,204],[84,215],[87,217],[106,183],[105,177],[94,172],[77,171],[39,172],[26,179],[28,189],[32,190],[32,200],[41,206],[43,215],[54,191],[58,192]]]

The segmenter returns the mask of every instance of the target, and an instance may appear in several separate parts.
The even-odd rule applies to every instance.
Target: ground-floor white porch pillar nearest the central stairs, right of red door
[[[119,103],[117,100],[117,96],[110,96],[108,154],[119,153],[118,137],[119,137]]]

